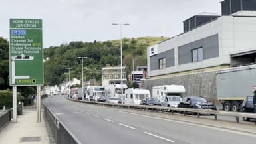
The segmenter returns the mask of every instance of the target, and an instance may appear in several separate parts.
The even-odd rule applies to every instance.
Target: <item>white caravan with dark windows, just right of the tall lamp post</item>
[[[128,88],[125,90],[124,104],[140,104],[144,98],[150,98],[150,91],[139,88]]]

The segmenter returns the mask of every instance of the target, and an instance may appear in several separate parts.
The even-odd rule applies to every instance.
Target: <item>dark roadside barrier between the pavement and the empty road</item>
[[[70,133],[66,126],[59,121],[54,113],[44,105],[44,115],[51,129],[53,139],[57,144],[80,144],[80,141]]]

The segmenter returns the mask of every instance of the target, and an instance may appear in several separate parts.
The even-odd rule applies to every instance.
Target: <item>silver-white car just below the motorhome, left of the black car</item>
[[[163,96],[160,106],[177,108],[180,102],[182,102],[182,97],[180,96]]]

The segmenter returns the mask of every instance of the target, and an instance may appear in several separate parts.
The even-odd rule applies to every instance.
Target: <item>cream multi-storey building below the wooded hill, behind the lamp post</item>
[[[126,67],[122,66],[122,83],[126,84]],[[102,86],[121,84],[121,67],[102,68]]]

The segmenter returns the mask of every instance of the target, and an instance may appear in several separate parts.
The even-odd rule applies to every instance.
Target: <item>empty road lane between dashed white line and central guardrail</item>
[[[207,127],[203,125],[188,124],[184,122],[170,121],[166,119],[159,119],[156,117],[148,117],[143,115],[136,115],[126,112],[110,110],[106,107],[93,106],[88,104],[79,104],[82,106],[81,110],[90,109],[91,113],[96,113],[102,117],[108,117],[117,121],[124,121],[135,127],[140,127],[162,135],[172,135],[175,139],[186,141],[187,143],[197,144],[215,144],[215,143],[255,143],[255,135],[247,135],[236,131],[228,131],[226,129],[219,129],[215,127]],[[79,107],[80,107],[79,106]],[[76,106],[77,107],[77,106]],[[77,107],[78,108],[78,107]],[[133,116],[131,116],[133,115]],[[135,116],[134,116],[135,115]]]

